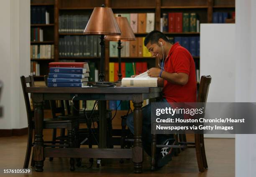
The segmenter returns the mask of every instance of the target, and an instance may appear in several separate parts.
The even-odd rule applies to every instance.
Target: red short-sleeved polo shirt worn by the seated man
[[[178,85],[164,80],[163,94],[168,102],[196,102],[197,81],[195,62],[186,48],[175,43],[164,61],[164,71],[168,73],[186,73],[189,79],[186,85]]]

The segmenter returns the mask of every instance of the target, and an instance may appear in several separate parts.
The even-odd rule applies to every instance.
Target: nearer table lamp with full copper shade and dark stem
[[[94,8],[92,15],[84,29],[84,35],[100,35],[100,80],[96,82],[99,84],[110,84],[110,82],[104,82],[104,57],[105,57],[105,35],[120,35],[121,31],[118,23],[115,20],[115,16],[111,8],[105,8],[105,5]]]

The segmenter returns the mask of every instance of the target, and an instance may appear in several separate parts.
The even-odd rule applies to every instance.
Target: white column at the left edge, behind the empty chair
[[[21,129],[27,127],[20,76],[30,73],[30,0],[0,3],[0,80],[4,84],[0,129]]]

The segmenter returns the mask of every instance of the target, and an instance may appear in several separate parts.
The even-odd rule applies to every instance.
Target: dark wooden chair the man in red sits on
[[[206,105],[208,91],[211,83],[211,76],[202,76],[199,86],[199,94],[197,97],[197,102],[204,103]],[[203,134],[195,134],[195,142],[178,142],[177,145],[156,145],[156,134],[152,135],[152,144],[151,144],[151,170],[155,169],[156,160],[156,147],[171,147],[171,148],[195,148],[197,165],[200,172],[204,172],[208,168],[206,155],[205,155],[205,143]]]

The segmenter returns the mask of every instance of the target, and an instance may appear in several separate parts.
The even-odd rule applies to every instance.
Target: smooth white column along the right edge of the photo
[[[256,102],[256,1],[236,0],[236,102]],[[236,177],[256,174],[256,135],[236,135]]]

